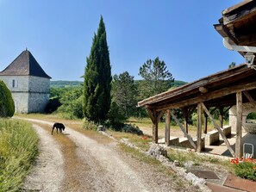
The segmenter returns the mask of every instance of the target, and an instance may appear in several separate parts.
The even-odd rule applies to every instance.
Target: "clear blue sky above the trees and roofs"
[[[134,79],[159,56],[176,80],[191,82],[244,62],[213,24],[241,0],[0,0],[0,71],[28,47],[52,80],[80,80],[100,15],[112,75]]]

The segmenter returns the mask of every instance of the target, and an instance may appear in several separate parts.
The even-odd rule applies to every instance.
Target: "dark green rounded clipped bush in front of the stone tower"
[[[15,103],[9,89],[0,80],[0,117],[11,117],[15,113]]]

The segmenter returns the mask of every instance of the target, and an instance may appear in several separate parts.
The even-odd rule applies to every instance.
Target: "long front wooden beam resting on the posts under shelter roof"
[[[172,109],[172,108],[184,108],[190,105],[195,105],[199,102],[206,102],[221,96],[228,96],[230,94],[234,94],[238,91],[244,91],[244,90],[253,90],[256,89],[256,84],[255,82],[249,83],[249,84],[240,84],[240,85],[234,85],[234,86],[229,86],[226,88],[223,88],[221,90],[215,90],[212,92],[208,92],[203,94],[202,96],[197,96],[195,98],[191,98],[188,100],[185,100],[183,102],[177,102],[177,103],[170,103],[170,104],[163,104],[159,106],[155,106],[157,111],[161,111],[164,109]]]

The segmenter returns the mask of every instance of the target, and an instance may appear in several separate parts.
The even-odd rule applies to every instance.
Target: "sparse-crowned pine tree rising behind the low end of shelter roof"
[[[140,66],[139,75],[144,79],[140,83],[140,96],[143,98],[159,94],[171,87],[174,78],[167,70],[165,61],[148,59]]]

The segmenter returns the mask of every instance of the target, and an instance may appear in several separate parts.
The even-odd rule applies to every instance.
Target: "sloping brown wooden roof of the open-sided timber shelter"
[[[168,108],[191,108],[198,102],[204,102],[207,107],[233,106],[238,91],[247,90],[253,99],[256,99],[255,77],[255,70],[248,68],[247,65],[238,65],[149,97],[138,102],[138,106],[153,108],[156,111]],[[248,102],[247,98],[244,98],[243,102]]]

